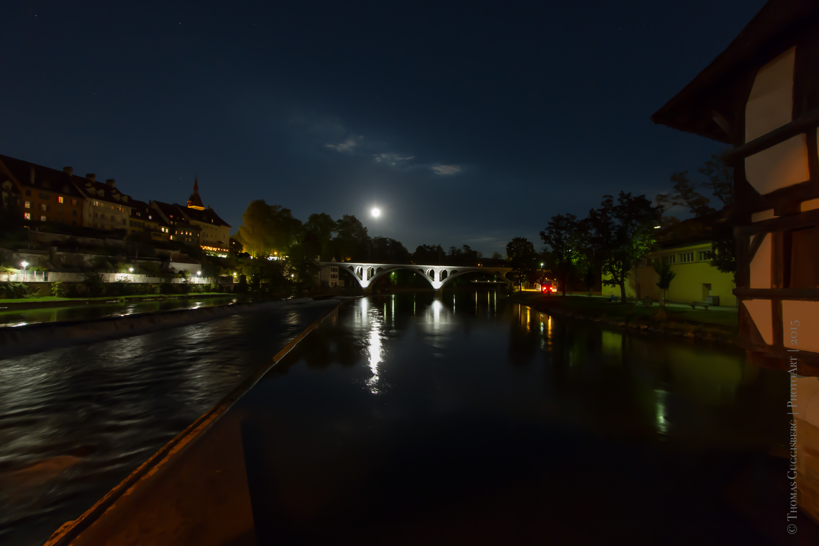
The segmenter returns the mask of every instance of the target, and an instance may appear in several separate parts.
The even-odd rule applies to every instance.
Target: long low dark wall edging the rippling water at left
[[[312,298],[214,305],[200,309],[174,309],[93,320],[71,320],[57,323],[0,327],[0,354],[9,356],[11,354],[51,349],[61,345],[135,336],[160,328],[201,323],[215,318],[247,313],[247,311],[275,309],[283,305],[303,303],[305,301],[312,301]]]

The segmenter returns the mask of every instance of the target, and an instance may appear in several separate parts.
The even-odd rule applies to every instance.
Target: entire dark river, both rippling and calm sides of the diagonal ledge
[[[0,360],[0,543],[41,544],[329,305]],[[419,292],[346,302],[236,411],[284,543],[777,544],[787,386],[730,347]]]

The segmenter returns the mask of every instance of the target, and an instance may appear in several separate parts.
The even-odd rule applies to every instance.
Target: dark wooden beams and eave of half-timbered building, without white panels
[[[795,47],[793,108],[790,123],[745,141],[746,105],[758,71]],[[790,287],[791,241],[794,230],[819,227],[819,2],[771,0],[737,38],[686,88],[651,116],[654,123],[733,145],[722,160],[734,171],[732,210],[736,244],[736,288],[739,344],[749,361],[766,368],[790,368],[799,356],[799,373],[819,376],[819,353],[795,347],[783,339],[783,301],[819,301],[819,287]],[[748,181],[745,160],[790,138],[804,135],[809,178],[760,194]],[[753,213],[771,211],[773,218],[753,222]],[[770,213],[768,213],[770,214]],[[770,234],[771,286],[751,288],[751,262]],[[819,263],[819,248],[808,256]],[[815,284],[815,282],[814,282]],[[772,341],[764,341],[744,300],[770,300]]]

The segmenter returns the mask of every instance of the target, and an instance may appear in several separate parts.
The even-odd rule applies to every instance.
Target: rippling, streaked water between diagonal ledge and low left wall
[[[332,305],[0,359],[0,544],[42,544]]]

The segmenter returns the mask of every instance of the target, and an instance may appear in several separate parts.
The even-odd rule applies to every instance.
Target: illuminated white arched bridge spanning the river
[[[392,273],[393,271],[400,271],[405,269],[413,273],[417,273],[421,277],[427,279],[432,285],[432,288],[440,290],[447,282],[450,282],[456,277],[460,277],[466,273],[485,273],[489,275],[497,275],[501,280],[512,284],[506,273],[512,271],[512,268],[484,268],[484,267],[460,267],[458,265],[410,265],[410,264],[353,264],[351,262],[318,262],[321,268],[337,267],[339,272],[346,271],[350,273],[355,281],[359,283],[360,287],[367,288],[369,285],[377,281],[378,278]]]

